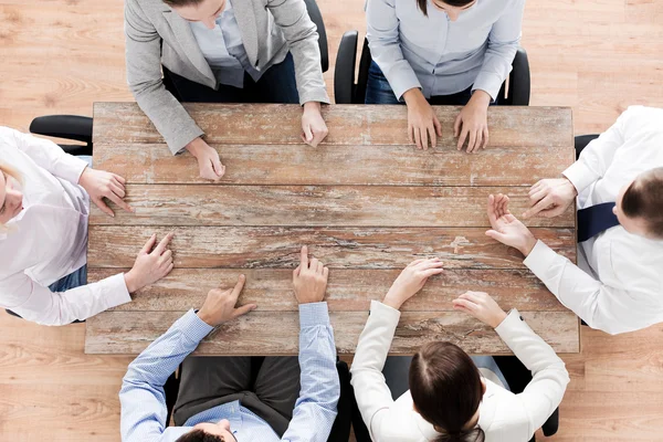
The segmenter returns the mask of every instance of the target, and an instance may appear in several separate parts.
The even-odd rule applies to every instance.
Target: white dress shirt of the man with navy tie
[[[663,109],[632,106],[564,171],[578,208],[617,200],[643,171],[663,167]],[[590,327],[615,335],[663,322],[663,241],[608,229],[578,246],[578,266],[543,242],[525,264]]]

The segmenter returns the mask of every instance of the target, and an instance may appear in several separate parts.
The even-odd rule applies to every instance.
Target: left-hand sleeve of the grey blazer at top
[[[204,134],[185,107],[166,91],[161,77],[161,36],[145,18],[137,0],[125,1],[125,40],[129,90],[170,151],[179,154]]]

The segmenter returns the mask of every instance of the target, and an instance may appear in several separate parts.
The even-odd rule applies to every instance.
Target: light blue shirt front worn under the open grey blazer
[[[227,0],[223,12],[217,18],[214,29],[208,29],[201,22],[190,22],[191,32],[200,46],[200,52],[217,76],[218,84],[244,87],[244,72],[257,82],[262,72],[249,62],[240,27]]]

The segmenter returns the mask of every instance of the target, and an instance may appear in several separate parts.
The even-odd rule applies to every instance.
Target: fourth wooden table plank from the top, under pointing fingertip
[[[441,228],[168,228],[90,227],[90,267],[130,267],[152,233],[170,231],[177,269],[295,269],[299,249],[330,269],[403,269],[410,262],[439,256],[448,269],[524,269],[523,255],[485,235],[485,229]],[[576,256],[572,229],[533,229],[562,255]]]

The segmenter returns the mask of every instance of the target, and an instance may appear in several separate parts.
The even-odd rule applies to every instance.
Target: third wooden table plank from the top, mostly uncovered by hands
[[[511,210],[529,206],[524,187],[199,186],[128,185],[135,213],[115,218],[94,207],[95,225],[379,225],[488,227],[490,193],[511,197]],[[532,227],[572,228],[573,207],[561,217],[526,220]]]

